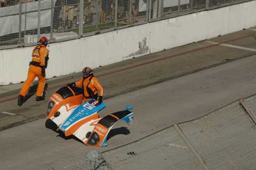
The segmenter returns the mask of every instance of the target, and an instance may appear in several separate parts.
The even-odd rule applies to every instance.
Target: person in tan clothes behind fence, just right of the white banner
[[[71,22],[74,18],[74,7],[77,4],[76,0],[65,0],[62,6],[62,21],[63,21],[63,29],[66,26],[66,19],[68,18],[68,30],[71,29]]]

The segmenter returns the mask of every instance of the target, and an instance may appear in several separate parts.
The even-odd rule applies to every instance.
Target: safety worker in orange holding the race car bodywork
[[[73,82],[67,84],[69,87],[75,87],[75,86],[82,86],[83,89],[83,95],[85,101],[90,99],[98,100],[99,103],[102,103],[103,98],[103,87],[101,86],[99,80],[94,77],[93,70],[91,70],[89,67],[85,67],[83,69],[83,78],[80,81]],[[99,94],[98,94],[99,91]],[[99,96],[99,97],[98,97]]]

